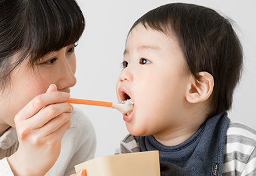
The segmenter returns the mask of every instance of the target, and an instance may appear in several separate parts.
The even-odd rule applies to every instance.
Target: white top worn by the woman
[[[62,138],[60,156],[46,175],[71,175],[75,173],[74,166],[94,157],[96,135],[91,121],[80,110],[72,112],[71,127]],[[0,137],[0,175],[13,176],[7,157],[18,149],[16,130],[10,127]]]

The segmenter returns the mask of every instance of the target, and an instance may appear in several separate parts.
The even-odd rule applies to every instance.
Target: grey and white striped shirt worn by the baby
[[[127,135],[115,154],[140,152],[139,137]],[[256,175],[256,131],[231,122],[226,134],[222,176]]]

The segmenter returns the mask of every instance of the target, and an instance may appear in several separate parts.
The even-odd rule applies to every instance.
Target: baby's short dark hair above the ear
[[[230,109],[233,90],[240,81],[243,49],[228,19],[207,7],[174,3],[141,16],[130,32],[138,24],[174,36],[197,80],[199,72],[213,76],[208,117]]]

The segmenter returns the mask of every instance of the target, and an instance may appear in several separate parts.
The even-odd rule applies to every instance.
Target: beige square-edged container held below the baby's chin
[[[158,151],[109,155],[75,166],[87,169],[88,176],[160,176]]]

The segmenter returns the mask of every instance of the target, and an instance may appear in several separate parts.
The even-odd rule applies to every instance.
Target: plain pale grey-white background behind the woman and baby
[[[77,84],[71,89],[73,98],[116,102],[115,84],[127,32],[133,22],[152,8],[171,2],[187,2],[213,8],[236,22],[236,32],[244,49],[244,70],[235,91],[231,120],[256,129],[256,1],[244,0],[77,0],[86,19],[86,29],[76,48]],[[91,120],[96,130],[95,157],[112,155],[127,134],[123,116],[107,107],[75,105]],[[87,134],[84,134],[87,135]]]

